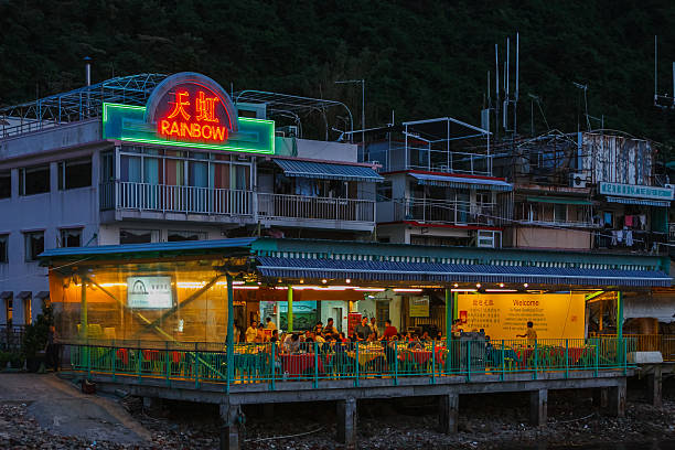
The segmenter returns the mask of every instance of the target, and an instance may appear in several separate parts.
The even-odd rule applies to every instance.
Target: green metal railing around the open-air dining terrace
[[[527,373],[536,379],[544,373],[559,372],[566,377],[576,371],[594,376],[601,371],[625,371],[626,354],[635,341],[615,338],[578,340],[451,340],[430,342],[298,343],[292,352],[271,343],[235,344],[233,367],[227,369],[225,346],[214,343],[78,343],[67,344],[74,371],[88,377],[108,375],[115,381],[189,382],[199,388],[204,383],[233,385],[304,381],[319,387],[322,381],[403,377],[461,376],[471,382],[476,375]]]

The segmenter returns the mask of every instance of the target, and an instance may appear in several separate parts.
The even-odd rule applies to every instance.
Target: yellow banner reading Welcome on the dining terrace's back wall
[[[463,331],[485,330],[493,340],[516,339],[534,323],[538,339],[582,339],[585,299],[579,293],[460,294]]]

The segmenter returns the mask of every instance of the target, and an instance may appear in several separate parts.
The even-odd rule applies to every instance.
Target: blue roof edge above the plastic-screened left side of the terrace
[[[122,245],[101,245],[92,247],[66,247],[51,248],[40,254],[40,259],[58,259],[78,256],[106,256],[106,255],[135,255],[147,253],[168,253],[168,251],[200,251],[233,248],[249,248],[256,237],[240,237],[232,239],[213,240],[184,240],[178,243],[148,243],[148,244],[122,244]]]

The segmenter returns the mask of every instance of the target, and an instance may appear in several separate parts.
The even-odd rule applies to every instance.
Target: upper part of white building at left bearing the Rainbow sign
[[[328,140],[328,121],[314,125],[312,115],[331,109],[351,117],[339,101],[231,96],[180,73],[113,78],[0,110],[0,324],[30,323],[49,299],[38,262],[45,249],[369,238],[383,178],[357,162],[356,146]],[[302,125],[322,139],[308,139]]]

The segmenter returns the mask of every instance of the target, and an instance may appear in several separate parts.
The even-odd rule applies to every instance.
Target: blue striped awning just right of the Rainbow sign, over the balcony
[[[364,165],[334,164],[330,162],[274,159],[287,176],[313,178],[323,180],[372,181],[384,178]]]

